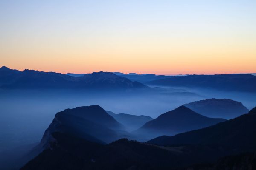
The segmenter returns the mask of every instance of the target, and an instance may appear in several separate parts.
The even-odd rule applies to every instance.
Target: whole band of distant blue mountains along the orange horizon
[[[61,74],[28,69],[18,71],[5,66],[0,68],[1,88],[148,88],[144,84],[256,92],[256,76],[252,74],[165,76],[103,71],[91,74]]]

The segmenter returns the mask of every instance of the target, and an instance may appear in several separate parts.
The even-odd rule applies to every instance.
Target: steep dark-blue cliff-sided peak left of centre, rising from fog
[[[49,147],[54,132],[71,134],[98,143],[110,143],[128,137],[123,125],[98,105],[66,109],[55,115],[41,140],[42,147]]]

